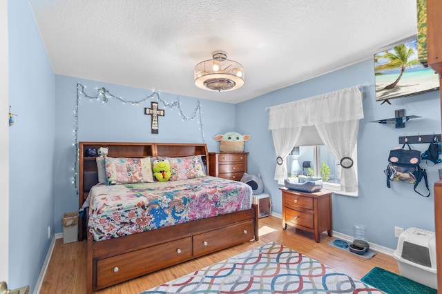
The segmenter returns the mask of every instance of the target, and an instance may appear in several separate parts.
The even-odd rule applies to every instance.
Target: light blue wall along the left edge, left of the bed
[[[55,75],[28,0],[8,1],[8,34],[9,104],[17,117],[9,130],[7,282],[30,285],[32,293],[54,228]]]

